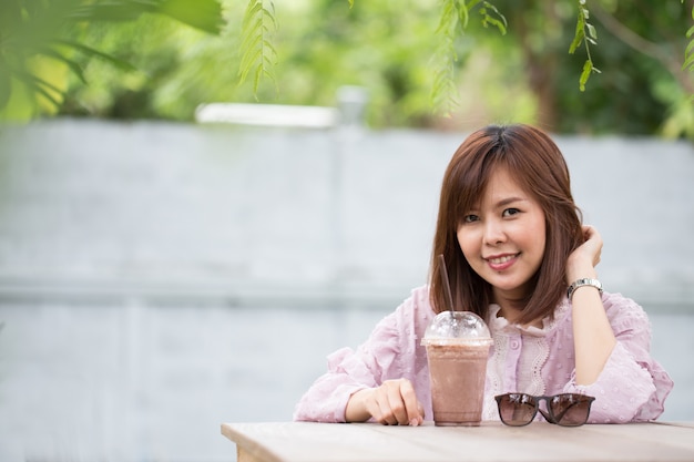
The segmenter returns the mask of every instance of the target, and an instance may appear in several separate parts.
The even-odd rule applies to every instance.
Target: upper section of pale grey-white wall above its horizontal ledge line
[[[51,121],[0,127],[0,288],[399,297],[465,134]],[[558,137],[605,287],[694,299],[694,148]]]

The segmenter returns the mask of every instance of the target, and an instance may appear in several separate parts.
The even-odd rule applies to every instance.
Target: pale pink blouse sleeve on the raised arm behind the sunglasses
[[[606,295],[603,304],[616,346],[594,383],[579,386],[573,377],[564,391],[595,397],[592,423],[654,420],[663,413],[673,382],[651,358],[649,318],[639,305],[620,295]]]

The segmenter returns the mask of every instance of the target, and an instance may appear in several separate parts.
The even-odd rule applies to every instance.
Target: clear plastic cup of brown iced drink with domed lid
[[[471,311],[443,311],[427,327],[433,422],[443,427],[477,427],[482,420],[489,328]]]

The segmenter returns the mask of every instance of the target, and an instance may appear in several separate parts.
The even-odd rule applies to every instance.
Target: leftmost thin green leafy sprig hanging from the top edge
[[[269,0],[251,0],[242,24],[242,59],[238,76],[241,84],[253,72],[253,92],[256,95],[263,76],[275,82],[274,68],[277,63],[277,51],[273,45],[273,37],[276,30],[274,3]]]

